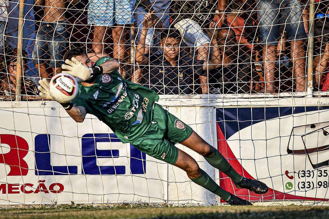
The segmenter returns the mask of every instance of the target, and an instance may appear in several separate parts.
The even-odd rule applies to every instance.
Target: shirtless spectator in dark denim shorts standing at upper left
[[[37,40],[32,58],[40,77],[49,78],[47,64],[54,73],[62,72],[63,55],[68,41],[67,25],[65,24],[65,3],[77,3],[77,0],[38,0],[36,5],[44,2],[44,12],[37,33]],[[47,63],[49,60],[49,63]]]

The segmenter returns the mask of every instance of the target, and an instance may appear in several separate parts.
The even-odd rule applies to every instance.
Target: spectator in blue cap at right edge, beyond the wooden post
[[[313,59],[315,72],[315,84],[318,90],[329,90],[329,15],[323,13],[316,14],[314,25],[314,36],[318,40],[319,55]]]

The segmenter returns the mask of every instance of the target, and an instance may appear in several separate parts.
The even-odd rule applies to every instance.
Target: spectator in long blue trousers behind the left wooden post
[[[18,39],[18,14],[19,14],[19,0],[9,1],[8,9],[8,21],[6,26],[6,46],[5,53],[11,54],[13,50],[17,48],[17,39]],[[25,0],[24,1],[24,26],[23,26],[23,50],[26,51],[28,55],[27,66],[28,69],[25,73],[26,76],[31,77],[32,80],[38,81],[38,70],[31,61],[31,54],[33,51],[35,38],[36,38],[36,29],[34,22],[34,0]]]

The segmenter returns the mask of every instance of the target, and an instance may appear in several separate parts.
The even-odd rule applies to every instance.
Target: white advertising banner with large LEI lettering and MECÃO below
[[[59,106],[0,112],[0,204],[167,200],[168,165],[98,119],[77,123]]]

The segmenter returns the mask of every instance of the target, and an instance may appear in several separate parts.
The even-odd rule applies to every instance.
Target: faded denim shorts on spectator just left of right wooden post
[[[287,32],[287,40],[307,38],[303,25],[303,5],[299,0],[258,0],[258,22],[261,43],[277,45],[279,28]]]

